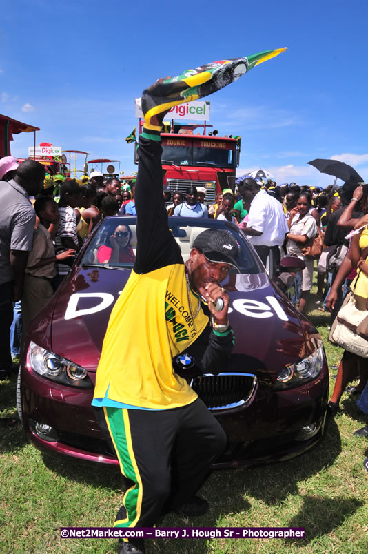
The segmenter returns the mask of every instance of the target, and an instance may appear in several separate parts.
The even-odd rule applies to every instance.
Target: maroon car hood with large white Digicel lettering
[[[96,371],[110,312],[129,276],[130,269],[72,269],[54,306],[52,351]],[[230,275],[223,286],[231,299],[229,322],[236,336],[237,365],[243,356],[245,363],[250,356],[264,371],[278,373],[322,344],[316,329],[267,274]]]

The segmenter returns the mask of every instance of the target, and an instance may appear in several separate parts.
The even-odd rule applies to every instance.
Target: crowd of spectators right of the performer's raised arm
[[[368,264],[365,264],[365,258],[368,257],[368,230],[365,223],[368,223],[368,186],[363,187],[356,181],[347,181],[343,187],[329,185],[325,189],[300,187],[296,183],[278,186],[271,179],[264,183],[249,177],[238,179],[237,185],[235,190],[224,189],[217,194],[214,204],[206,204],[205,187],[192,185],[185,195],[179,190],[170,193],[169,189],[164,189],[167,213],[176,217],[227,220],[238,225],[271,276],[280,258],[287,255],[303,260],[305,269],[300,291],[296,296],[294,294],[294,302],[301,312],[307,310],[314,276],[318,288],[317,307],[320,311],[331,311],[331,325],[351,289],[354,298],[362,298],[359,304],[362,309],[367,309]],[[353,240],[349,234],[354,229],[360,229],[360,234]],[[306,254],[305,245],[318,236],[322,251],[314,259]],[[361,275],[359,283],[357,268]],[[340,411],[340,398],[347,384],[356,378],[359,379],[358,385],[348,391],[362,396],[358,405],[368,413],[367,401],[364,400],[368,398],[368,364],[364,359],[345,350],[329,401],[329,411],[333,416]],[[356,434],[368,437],[368,426],[358,429]]]

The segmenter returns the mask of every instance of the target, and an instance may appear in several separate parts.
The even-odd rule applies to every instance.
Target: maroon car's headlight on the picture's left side
[[[28,347],[27,358],[30,367],[47,379],[72,387],[83,387],[83,389],[93,387],[84,367],[40,347],[32,340]]]

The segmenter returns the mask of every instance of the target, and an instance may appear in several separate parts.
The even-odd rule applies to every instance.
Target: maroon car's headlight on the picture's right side
[[[290,364],[278,373],[274,388],[278,391],[300,387],[318,377],[325,362],[323,347],[319,347],[314,353],[297,364]]]

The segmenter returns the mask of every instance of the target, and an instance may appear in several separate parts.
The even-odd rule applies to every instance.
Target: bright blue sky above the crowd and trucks
[[[367,0],[231,3],[14,0],[1,8],[0,113],[37,143],[121,160],[130,174],[134,98],[160,76],[287,46],[209,96],[220,134],[242,136],[238,174],[326,186],[306,164],[336,158],[368,181]],[[28,156],[31,134],[12,142]]]

